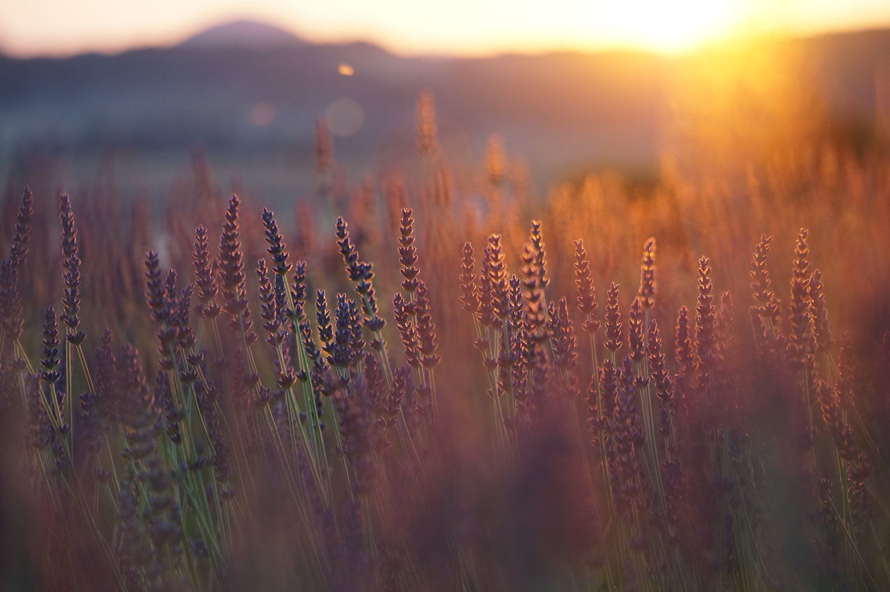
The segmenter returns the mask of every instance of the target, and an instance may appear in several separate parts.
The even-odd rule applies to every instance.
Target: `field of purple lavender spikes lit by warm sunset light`
[[[323,130],[294,231],[199,161],[164,222],[7,196],[7,585],[890,587],[886,158],[535,199],[425,94],[352,190]]]

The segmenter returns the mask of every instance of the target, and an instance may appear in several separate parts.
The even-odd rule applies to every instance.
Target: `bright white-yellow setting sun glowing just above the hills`
[[[742,0],[606,0],[595,4],[598,29],[614,40],[667,53],[715,41],[742,19]]]

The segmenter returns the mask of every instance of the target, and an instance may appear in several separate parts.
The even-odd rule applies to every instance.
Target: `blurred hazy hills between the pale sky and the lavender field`
[[[319,118],[358,182],[414,153],[414,102],[429,89],[457,164],[499,134],[538,192],[603,170],[651,181],[665,155],[744,166],[886,139],[888,53],[890,30],[873,29],[680,54],[414,56],[239,20],[168,47],[0,59],[0,174],[17,186],[39,170],[69,189],[110,178],[128,199],[158,198],[200,149],[223,184],[279,206],[312,191]]]

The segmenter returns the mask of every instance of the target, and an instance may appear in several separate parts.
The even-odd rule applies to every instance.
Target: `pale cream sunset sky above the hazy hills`
[[[240,18],[401,53],[677,52],[751,28],[888,26],[890,0],[0,0],[0,49],[36,55],[164,45]]]

